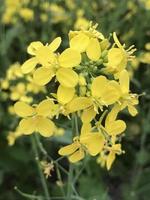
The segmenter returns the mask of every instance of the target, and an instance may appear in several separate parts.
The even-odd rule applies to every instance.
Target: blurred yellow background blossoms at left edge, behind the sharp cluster
[[[30,75],[25,76],[22,73],[20,63],[14,63],[8,68],[5,77],[0,79],[0,87],[10,100],[21,100],[28,103],[33,100],[28,93],[45,92],[45,88],[34,83]]]

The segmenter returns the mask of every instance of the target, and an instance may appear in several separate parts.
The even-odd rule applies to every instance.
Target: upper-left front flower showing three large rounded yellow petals
[[[40,67],[34,72],[34,81],[39,85],[45,85],[56,75],[56,79],[62,86],[75,87],[78,83],[78,75],[72,68],[80,64],[80,53],[67,48],[56,58],[55,65]]]

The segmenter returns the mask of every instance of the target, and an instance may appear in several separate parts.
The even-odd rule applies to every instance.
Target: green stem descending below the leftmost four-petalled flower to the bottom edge
[[[36,135],[35,135],[35,137],[36,137]],[[50,195],[49,195],[49,191],[48,191],[48,187],[47,187],[47,183],[46,183],[46,178],[43,174],[43,171],[42,171],[41,165],[40,165],[40,161],[39,161],[39,153],[38,153],[38,149],[37,149],[37,140],[36,140],[35,137],[34,137],[34,135],[31,136],[32,147],[33,147],[33,150],[34,150],[34,153],[35,153],[35,160],[36,160],[36,163],[37,163],[37,166],[38,166],[39,175],[40,175],[44,195],[45,195],[46,199],[50,200],[51,198],[50,198]]]

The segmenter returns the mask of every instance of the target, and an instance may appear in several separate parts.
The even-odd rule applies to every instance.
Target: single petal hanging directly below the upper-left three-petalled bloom
[[[66,88],[60,85],[57,90],[57,100],[61,104],[66,104],[73,99],[74,94],[74,88]]]

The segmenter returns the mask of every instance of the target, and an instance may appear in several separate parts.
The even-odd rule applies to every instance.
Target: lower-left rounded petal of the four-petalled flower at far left
[[[33,118],[22,119],[19,123],[19,131],[25,135],[35,132],[36,122]]]

